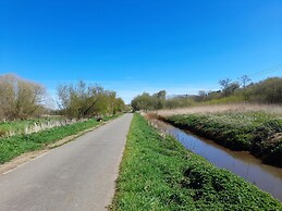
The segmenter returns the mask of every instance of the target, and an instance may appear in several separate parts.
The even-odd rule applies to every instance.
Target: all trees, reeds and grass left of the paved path
[[[115,91],[84,82],[59,86],[58,97],[60,110],[52,110],[54,103],[40,84],[13,74],[0,75],[0,164],[94,127],[99,120],[107,121],[126,109]],[[44,117],[52,116],[50,113],[56,117]],[[64,121],[52,122],[54,119]]]

